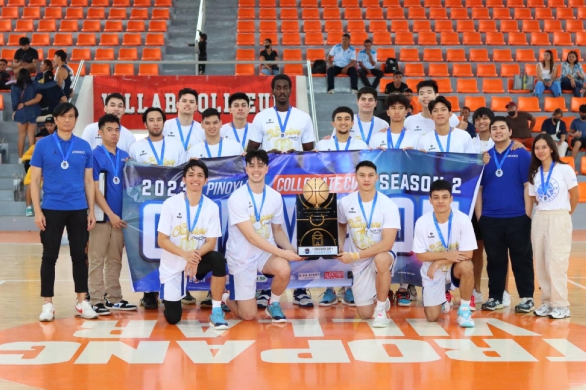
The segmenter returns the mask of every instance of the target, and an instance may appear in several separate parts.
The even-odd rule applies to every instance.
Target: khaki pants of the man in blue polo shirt
[[[122,229],[114,228],[110,221],[98,223],[90,231],[88,288],[91,305],[105,303],[104,293],[108,294],[108,302],[118,303],[122,300],[120,288],[122,248],[124,248]]]

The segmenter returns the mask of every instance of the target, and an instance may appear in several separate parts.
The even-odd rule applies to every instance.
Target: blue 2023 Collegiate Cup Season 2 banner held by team
[[[393,250],[397,252],[393,283],[421,286],[421,263],[411,251],[415,221],[432,211],[430,186],[434,180],[452,183],[452,207],[472,216],[482,175],[482,156],[460,153],[423,153],[418,150],[355,150],[340,152],[303,152],[270,155],[266,183],[279,191],[284,201],[284,230],[297,244],[295,198],[305,182],[319,177],[328,183],[338,201],[357,190],[355,166],[370,160],[377,166],[377,189],[398,206],[401,230]],[[223,237],[218,239],[220,252],[226,250],[228,235],[227,200],[234,190],[246,185],[244,159],[206,159],[209,182],[203,194],[220,207]],[[124,168],[122,219],[128,223],[124,241],[128,254],[132,289],[158,291],[161,249],[156,242],[157,225],[163,201],[185,190],[182,167],[144,165],[129,161]],[[352,285],[350,265],[336,259],[291,262],[288,288],[313,288]],[[208,290],[211,274],[199,283],[188,283],[188,290]],[[268,289],[270,280],[258,275],[258,289]]]

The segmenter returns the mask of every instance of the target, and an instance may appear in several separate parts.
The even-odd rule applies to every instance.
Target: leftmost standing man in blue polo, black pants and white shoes
[[[40,265],[40,296],[45,305],[40,321],[53,321],[55,264],[61,237],[67,228],[69,253],[73,262],[73,282],[77,293],[75,314],[97,319],[87,293],[86,244],[88,231],[96,225],[94,216],[93,160],[90,145],[73,135],[79,112],[64,102],[55,108],[53,118],[59,132],[40,139],[30,160],[30,194],[35,208],[35,224],[40,229],[43,258]],[[43,205],[40,203],[40,179],[43,177]]]

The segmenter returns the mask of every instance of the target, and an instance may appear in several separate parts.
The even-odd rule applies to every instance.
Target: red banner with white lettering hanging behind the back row
[[[122,125],[128,129],[144,129],[142,113],[149,107],[165,111],[167,119],[177,116],[179,90],[193,88],[199,95],[197,110],[216,108],[228,114],[228,98],[243,92],[250,98],[249,122],[254,114],[274,105],[271,94],[272,77],[265,76],[94,76],[94,121],[104,115],[104,101],[108,94],[117,92],[126,98]],[[289,102],[295,107],[295,77]],[[200,122],[199,113],[195,115]]]

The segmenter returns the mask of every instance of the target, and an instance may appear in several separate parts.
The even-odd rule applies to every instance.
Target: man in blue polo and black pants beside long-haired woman
[[[533,203],[527,191],[531,155],[525,149],[511,150],[512,130],[505,117],[490,122],[490,161],[484,167],[476,199],[476,217],[486,250],[489,299],[482,310],[503,308],[503,293],[509,255],[521,298],[517,313],[534,310],[533,249],[531,218]]]

